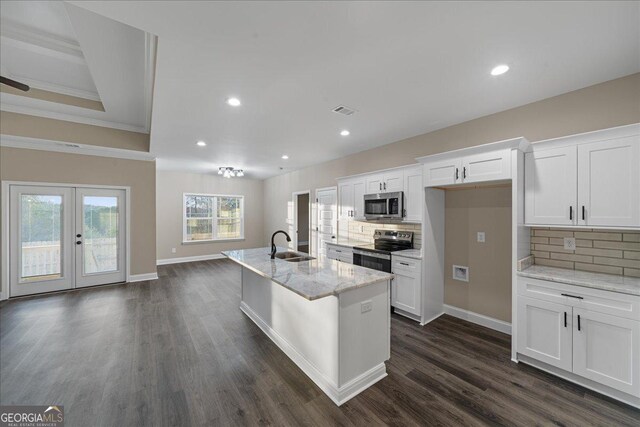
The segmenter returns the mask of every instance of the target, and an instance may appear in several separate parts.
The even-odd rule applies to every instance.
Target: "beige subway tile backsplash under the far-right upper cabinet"
[[[564,249],[564,238],[576,249]],[[640,230],[531,229],[534,263],[550,267],[640,277]]]

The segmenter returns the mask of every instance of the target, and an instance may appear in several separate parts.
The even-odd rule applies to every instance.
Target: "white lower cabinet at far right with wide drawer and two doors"
[[[521,277],[517,298],[518,353],[640,397],[640,297]]]

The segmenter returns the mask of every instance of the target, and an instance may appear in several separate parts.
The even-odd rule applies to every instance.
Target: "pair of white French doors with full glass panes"
[[[125,191],[11,185],[10,296],[126,279]]]

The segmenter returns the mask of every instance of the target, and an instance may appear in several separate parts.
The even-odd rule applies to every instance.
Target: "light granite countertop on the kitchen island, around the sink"
[[[287,251],[278,248],[278,252]],[[255,273],[271,279],[308,300],[391,280],[394,275],[338,262],[326,257],[310,261],[288,262],[271,259],[270,248],[223,251],[222,254]]]

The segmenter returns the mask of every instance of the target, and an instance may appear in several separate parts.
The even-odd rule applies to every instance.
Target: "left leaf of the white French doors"
[[[10,296],[73,287],[73,189],[9,190]]]

